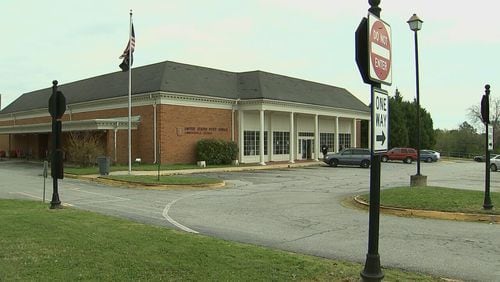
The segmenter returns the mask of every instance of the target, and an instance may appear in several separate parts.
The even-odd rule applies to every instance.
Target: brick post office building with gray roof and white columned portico
[[[128,73],[59,90],[67,104],[63,140],[71,132],[100,132],[106,155],[127,163]],[[47,157],[51,94],[51,88],[25,93],[0,111],[0,151]],[[241,163],[317,160],[322,145],[330,152],[367,147],[369,120],[369,107],[340,87],[170,61],[132,70],[132,159],[146,163],[194,163],[196,142],[203,138],[237,142]]]

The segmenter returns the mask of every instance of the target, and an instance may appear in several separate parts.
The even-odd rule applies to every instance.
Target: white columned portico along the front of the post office
[[[360,121],[369,113],[286,102],[239,104],[239,159],[242,163],[320,160],[328,152],[359,147]],[[368,136],[368,132],[364,132]]]

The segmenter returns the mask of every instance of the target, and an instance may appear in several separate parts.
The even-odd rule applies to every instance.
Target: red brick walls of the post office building
[[[145,163],[154,162],[154,134],[153,134],[153,106],[139,106],[132,108],[132,116],[141,116],[141,122],[137,130],[132,130],[132,161],[141,158]],[[157,106],[157,138],[161,148],[162,163],[194,163],[196,162],[196,142],[203,138],[231,140],[231,110],[158,105]],[[86,120],[97,118],[116,118],[126,117],[128,109],[112,109],[102,111],[92,111],[85,113],[73,113],[72,120]],[[235,141],[238,140],[237,134],[237,114],[235,115]],[[16,124],[45,123],[50,122],[50,116],[42,118],[32,118],[16,120]],[[62,118],[63,121],[69,120],[69,113]],[[12,122],[3,122],[2,125],[11,125]],[[49,134],[50,135],[50,134]],[[63,134],[65,135],[65,134]],[[31,136],[31,137],[27,137]],[[30,147],[37,155],[39,148],[45,147],[38,144],[39,140],[32,134],[14,134],[12,135],[11,148]],[[32,138],[33,137],[33,138]],[[63,138],[64,139],[64,138]],[[0,136],[0,150],[3,146],[8,149],[8,135]],[[103,144],[106,148],[106,155],[114,160],[114,131],[108,130]],[[50,142],[50,137],[48,141]],[[63,148],[65,141],[63,140]],[[119,130],[117,132],[117,162],[128,162],[128,130]],[[50,148],[50,143],[48,143]]]

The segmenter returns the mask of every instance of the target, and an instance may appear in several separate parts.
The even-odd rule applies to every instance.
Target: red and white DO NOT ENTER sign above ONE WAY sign
[[[370,79],[391,85],[391,28],[388,24],[373,15],[368,16],[368,24]]]

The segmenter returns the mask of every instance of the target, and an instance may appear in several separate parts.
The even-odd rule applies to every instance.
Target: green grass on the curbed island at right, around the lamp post
[[[491,193],[493,205],[500,205],[500,193]],[[369,202],[370,195],[361,195]],[[500,214],[500,209],[483,209],[484,192],[443,187],[396,187],[380,191],[380,204],[388,207]]]

